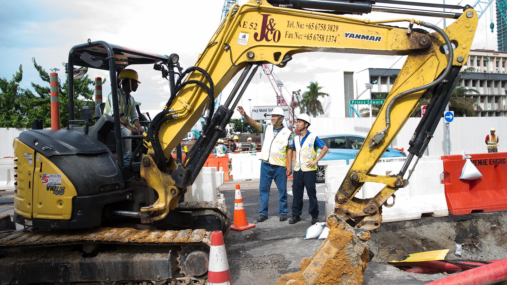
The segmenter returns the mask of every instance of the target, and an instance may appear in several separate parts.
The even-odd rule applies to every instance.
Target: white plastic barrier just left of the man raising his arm
[[[259,180],[261,177],[261,153],[229,154],[233,181]]]

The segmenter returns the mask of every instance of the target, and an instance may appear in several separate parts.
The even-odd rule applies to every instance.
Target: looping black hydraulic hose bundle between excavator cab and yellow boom
[[[198,80],[188,80],[188,81],[185,81],[182,83],[182,79],[187,74],[189,74],[190,72],[193,72],[195,70],[204,74],[204,76],[206,77],[206,79],[209,83],[209,87],[206,86],[206,84],[204,84],[203,82],[198,81]],[[172,90],[171,96],[166,103],[166,108],[164,110],[162,110],[162,112],[157,114],[157,116],[155,116],[155,118],[153,118],[152,123],[150,124],[150,128],[148,129],[147,139],[150,140],[150,142],[152,143],[152,147],[153,147],[154,154],[155,154],[155,163],[157,164],[157,167],[164,172],[168,172],[170,170],[172,156],[169,157],[169,161],[168,161],[168,163],[166,163],[166,157],[164,155],[164,151],[162,149],[162,146],[160,145],[159,131],[160,131],[160,128],[162,127],[162,125],[166,121],[168,121],[170,119],[177,118],[177,115],[169,115],[169,113],[172,113],[172,112],[169,112],[168,108],[172,104],[174,99],[176,98],[177,93],[183,87],[185,87],[186,85],[189,85],[189,84],[197,84],[206,90],[206,92],[209,96],[209,102],[208,102],[209,115],[208,115],[208,118],[206,118],[206,124],[204,127],[208,126],[211,121],[211,116],[212,116],[212,113],[214,110],[214,97],[213,97],[214,85],[213,85],[213,81],[211,80],[211,76],[204,69],[202,69],[200,67],[196,67],[196,66],[189,67],[189,68],[187,68],[187,70],[185,70],[185,72],[181,76],[179,76],[179,78],[176,82],[176,87]],[[203,127],[203,130],[205,130],[204,127]]]

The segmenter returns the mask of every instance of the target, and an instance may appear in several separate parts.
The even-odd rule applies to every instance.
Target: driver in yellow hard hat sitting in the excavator
[[[123,69],[118,76],[121,80],[121,88],[118,88],[118,101],[120,102],[120,113],[124,113],[120,116],[120,124],[122,136],[125,135],[137,135],[142,134],[141,125],[137,117],[137,111],[135,110],[135,100],[131,93],[137,90],[137,86],[141,83],[138,79],[137,72],[133,69]],[[104,106],[104,114],[113,116],[113,101],[109,93],[107,101]],[[135,126],[135,128],[134,128]],[[125,163],[130,162],[132,157],[132,139],[123,140],[123,161]]]

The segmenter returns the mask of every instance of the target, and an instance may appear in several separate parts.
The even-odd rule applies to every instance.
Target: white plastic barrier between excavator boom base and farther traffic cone
[[[203,167],[192,186],[185,193],[186,202],[217,201],[225,205],[224,194],[220,193],[220,186],[224,184],[224,168]]]

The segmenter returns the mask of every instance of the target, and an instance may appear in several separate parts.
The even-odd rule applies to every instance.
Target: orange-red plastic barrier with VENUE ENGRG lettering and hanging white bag
[[[476,180],[460,180],[465,160],[461,155],[442,156],[445,196],[451,215],[467,215],[507,210],[507,153],[471,154],[470,161],[483,175]]]

